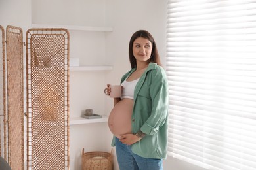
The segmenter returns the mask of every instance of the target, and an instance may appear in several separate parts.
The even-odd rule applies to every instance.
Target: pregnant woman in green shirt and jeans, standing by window
[[[121,78],[122,95],[114,98],[108,126],[119,169],[163,169],[167,156],[168,84],[156,43],[145,30],[129,42],[131,70]],[[108,95],[111,93],[107,85]]]

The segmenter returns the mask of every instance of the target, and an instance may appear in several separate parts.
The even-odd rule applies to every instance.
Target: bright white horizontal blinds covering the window
[[[169,155],[256,169],[256,0],[169,0]]]

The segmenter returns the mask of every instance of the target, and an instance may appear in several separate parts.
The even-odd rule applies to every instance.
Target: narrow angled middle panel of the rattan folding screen
[[[24,169],[24,93],[22,29],[7,26],[7,129],[11,169]]]

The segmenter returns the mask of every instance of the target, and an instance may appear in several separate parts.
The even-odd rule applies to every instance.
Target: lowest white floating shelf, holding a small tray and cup
[[[70,125],[76,124],[95,124],[100,122],[108,122],[108,116],[102,116],[102,118],[86,119],[86,118],[70,118]]]

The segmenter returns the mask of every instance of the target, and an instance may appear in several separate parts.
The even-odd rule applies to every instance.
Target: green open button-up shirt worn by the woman
[[[121,78],[121,83],[135,71],[131,69]],[[167,157],[168,134],[168,82],[162,67],[150,63],[135,86],[132,133],[146,134],[131,145],[133,153],[144,158]],[[114,140],[112,146],[114,146]]]

